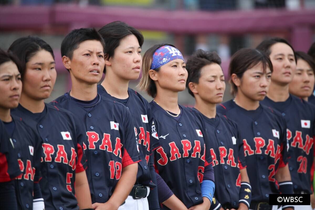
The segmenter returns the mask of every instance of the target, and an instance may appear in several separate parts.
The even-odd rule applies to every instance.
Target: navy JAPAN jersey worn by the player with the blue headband
[[[212,161],[205,149],[202,122],[181,105],[179,118],[170,116],[154,101],[150,106],[161,135],[161,147],[154,151],[157,172],[187,208],[202,203],[200,183],[204,168]],[[162,205],[162,209],[169,208]]]

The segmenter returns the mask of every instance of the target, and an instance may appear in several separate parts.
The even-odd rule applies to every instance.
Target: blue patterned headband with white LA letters
[[[175,59],[181,59],[185,62],[178,49],[169,45],[162,46],[154,52],[150,69],[157,69]]]

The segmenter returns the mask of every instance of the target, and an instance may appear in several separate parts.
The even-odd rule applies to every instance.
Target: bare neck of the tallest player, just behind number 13
[[[101,83],[106,92],[117,99],[127,99],[129,80],[117,77],[111,71],[106,71],[106,76]]]

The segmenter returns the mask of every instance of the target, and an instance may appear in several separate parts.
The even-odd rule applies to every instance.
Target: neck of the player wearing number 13
[[[97,83],[88,84],[86,82],[78,82],[72,79],[72,87],[70,96],[82,101],[90,101],[97,96]]]

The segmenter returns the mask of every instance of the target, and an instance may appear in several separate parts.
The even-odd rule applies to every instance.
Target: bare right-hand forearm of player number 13
[[[138,163],[130,164],[123,168],[121,177],[115,187],[115,190],[107,202],[119,207],[128,197],[137,178]]]

